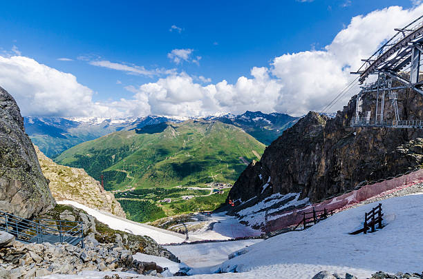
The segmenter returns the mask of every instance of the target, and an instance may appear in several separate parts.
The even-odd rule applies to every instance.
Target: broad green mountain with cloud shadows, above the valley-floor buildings
[[[238,127],[220,121],[147,125],[79,144],[57,163],[104,175],[106,189],[234,183],[245,164],[265,145]]]

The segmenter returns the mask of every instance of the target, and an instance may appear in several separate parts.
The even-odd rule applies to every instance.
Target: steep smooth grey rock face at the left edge
[[[0,210],[30,218],[54,205],[19,107],[0,87]]]

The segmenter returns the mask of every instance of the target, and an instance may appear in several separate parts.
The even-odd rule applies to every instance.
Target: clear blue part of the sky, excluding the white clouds
[[[79,85],[92,91],[86,92],[91,94],[91,101],[103,105],[121,98],[132,100],[143,84],[181,73],[201,87],[223,80],[235,85],[240,76],[250,79],[254,67],[272,71],[276,57],[319,51],[330,45],[341,30],[348,28],[353,17],[395,5],[410,10],[419,4],[408,0],[86,2],[2,3],[0,48],[5,57],[19,54],[48,68],[71,73]],[[178,51],[175,53],[182,56],[172,54],[172,50],[185,50],[186,56]],[[61,58],[71,61],[57,60]],[[110,63],[106,65],[104,61]],[[113,70],[111,65],[129,66],[132,70]],[[270,76],[273,79],[274,72]],[[280,78],[277,74],[276,77]],[[24,93],[16,93],[18,103]],[[180,101],[189,106],[193,100]],[[178,98],[167,99],[167,105],[169,102],[177,103]],[[139,115],[181,111],[180,107],[151,110],[155,102],[147,103],[150,109]],[[230,110],[227,106],[222,109],[223,103],[230,107],[227,100],[220,100],[205,111]],[[204,108],[200,105],[186,114],[198,114]],[[248,106],[239,105],[232,112],[245,108]],[[254,110],[254,104],[250,110]],[[272,107],[269,112],[276,110],[284,112],[283,105]],[[136,114],[135,109],[131,112]],[[286,109],[285,112],[292,114]],[[68,114],[62,110],[48,113]]]

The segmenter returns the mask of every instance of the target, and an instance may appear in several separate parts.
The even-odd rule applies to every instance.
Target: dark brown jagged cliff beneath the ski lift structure
[[[370,110],[373,121],[375,97],[363,98],[363,111]],[[276,193],[301,193],[300,198],[317,202],[421,165],[423,130],[350,127],[356,98],[335,118],[309,112],[268,146],[261,161],[248,165],[232,187],[228,200],[236,200],[235,211],[242,201]],[[423,120],[423,98],[417,92],[402,90],[398,107],[401,119]],[[392,118],[386,101],[384,119]]]

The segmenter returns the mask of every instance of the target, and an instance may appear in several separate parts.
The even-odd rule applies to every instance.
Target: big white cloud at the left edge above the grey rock
[[[23,115],[91,116],[119,112],[93,103],[93,91],[73,74],[23,56],[0,56],[0,86],[16,99]]]

